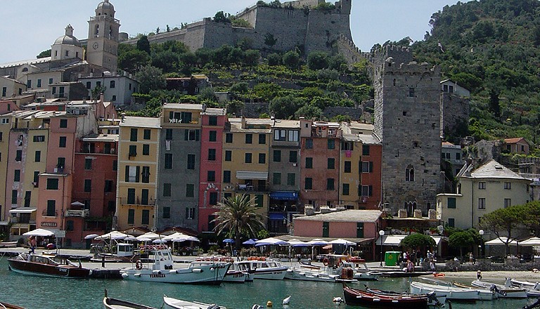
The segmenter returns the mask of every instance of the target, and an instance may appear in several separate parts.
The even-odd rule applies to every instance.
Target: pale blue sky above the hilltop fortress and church
[[[269,2],[270,0],[266,0]],[[328,0],[327,0],[328,1]],[[466,2],[462,1],[462,2]],[[98,0],[1,0],[0,63],[36,58],[65,33],[70,24],[77,39],[88,37],[88,20]],[[120,32],[130,36],[180,27],[213,17],[217,11],[236,14],[257,0],[110,0]],[[285,2],[284,0],[281,2]],[[329,2],[329,1],[328,1]],[[423,39],[432,13],[458,0],[352,0],[351,32],[362,51],[374,44],[411,37]]]

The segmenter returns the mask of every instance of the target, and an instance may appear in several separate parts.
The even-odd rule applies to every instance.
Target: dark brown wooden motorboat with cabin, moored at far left
[[[8,265],[14,272],[47,277],[85,278],[91,272],[81,263],[73,263],[67,258],[39,254],[19,254],[16,258],[8,258]]]

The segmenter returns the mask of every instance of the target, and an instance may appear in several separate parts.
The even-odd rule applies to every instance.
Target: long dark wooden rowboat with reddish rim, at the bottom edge
[[[372,293],[352,287],[343,287],[347,305],[361,305],[367,308],[428,308],[428,296],[390,296]]]

